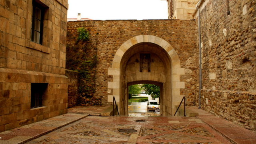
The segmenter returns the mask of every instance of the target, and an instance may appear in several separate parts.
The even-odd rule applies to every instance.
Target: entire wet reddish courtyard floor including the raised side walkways
[[[256,144],[255,132],[190,109],[199,116],[104,117],[99,116],[104,108],[76,107],[68,114],[2,132],[0,144]]]

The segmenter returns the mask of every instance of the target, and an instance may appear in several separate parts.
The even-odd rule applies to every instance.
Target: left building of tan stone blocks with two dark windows
[[[0,132],[67,112],[67,0],[0,0]]]

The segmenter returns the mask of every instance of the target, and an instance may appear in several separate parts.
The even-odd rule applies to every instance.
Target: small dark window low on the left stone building
[[[46,91],[47,83],[31,83],[31,105],[30,108],[44,106],[43,96]]]

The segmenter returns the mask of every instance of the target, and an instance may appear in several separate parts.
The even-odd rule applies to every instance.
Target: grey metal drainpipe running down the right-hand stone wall
[[[198,5],[202,0],[196,4],[198,10],[198,41],[199,41],[199,96],[198,96],[198,108],[201,108],[201,89],[202,89],[202,66],[201,66],[201,22],[200,22],[200,9]]]

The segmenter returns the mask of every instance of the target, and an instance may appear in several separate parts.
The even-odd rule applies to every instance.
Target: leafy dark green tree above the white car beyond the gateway
[[[154,84],[142,84],[141,88],[145,90],[145,93],[152,96],[152,98],[160,97],[160,86]]]

